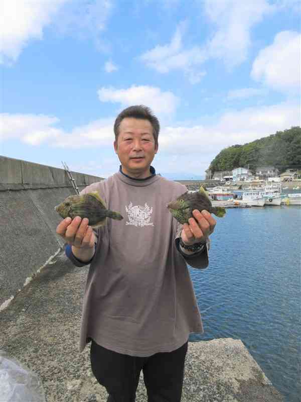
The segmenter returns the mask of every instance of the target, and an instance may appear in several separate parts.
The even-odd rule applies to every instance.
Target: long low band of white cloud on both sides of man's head
[[[159,152],[154,161],[157,171],[183,174],[191,171],[202,175],[221,149],[299,125],[299,106],[285,102],[246,108],[226,112],[211,120],[211,124],[204,125],[163,126],[159,135]],[[106,177],[119,165],[114,154],[109,152],[113,149],[114,118],[75,127],[71,132],[54,127],[59,123],[55,117],[4,114],[1,121],[3,140],[19,139],[33,146],[44,144],[68,150],[84,147],[99,147],[100,153],[106,150],[99,158],[101,162],[95,163],[90,163],[88,152],[84,152],[83,160],[72,165],[72,170]]]

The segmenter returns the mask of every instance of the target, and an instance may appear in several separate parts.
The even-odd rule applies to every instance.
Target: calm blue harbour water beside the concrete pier
[[[241,339],[285,401],[300,402],[301,206],[216,220],[209,267],[189,268],[205,329],[190,341]]]

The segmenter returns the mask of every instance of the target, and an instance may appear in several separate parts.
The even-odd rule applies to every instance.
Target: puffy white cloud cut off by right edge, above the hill
[[[301,35],[279,32],[256,57],[251,76],[282,92],[300,92]]]

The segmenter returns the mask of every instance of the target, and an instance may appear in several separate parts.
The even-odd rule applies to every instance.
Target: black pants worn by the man
[[[134,402],[140,371],[148,402],[180,402],[188,342],[172,352],[133,357],[91,341],[91,368],[109,397],[107,402]]]

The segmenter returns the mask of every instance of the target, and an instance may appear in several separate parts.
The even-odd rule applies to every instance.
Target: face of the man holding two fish
[[[114,141],[114,149],[123,173],[135,178],[149,176],[149,166],[158,151],[152,124],[148,120],[123,119],[117,141]]]

